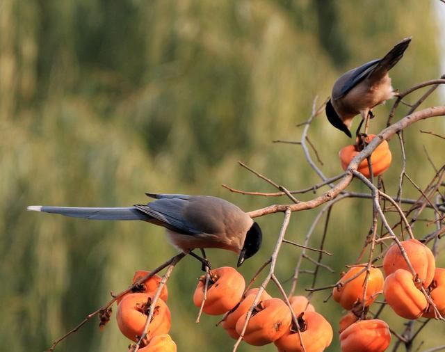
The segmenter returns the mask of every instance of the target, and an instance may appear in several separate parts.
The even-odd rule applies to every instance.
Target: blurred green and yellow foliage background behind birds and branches
[[[136,269],[152,269],[175,254],[163,230],[152,225],[28,213],[27,205],[125,206],[148,201],[145,191],[211,194],[245,210],[288,202],[232,194],[220,184],[274,191],[238,160],[288,189],[319,182],[300,147],[271,141],[298,141],[296,124],[310,115],[316,95],[321,104],[340,73],[381,57],[409,35],[412,45],[391,72],[393,86],[404,90],[444,73],[441,5],[435,2],[1,0],[2,345],[16,352],[47,349],[105,303],[109,291],[126,288]],[[425,104],[439,102],[436,93]],[[389,106],[375,109],[382,118],[373,120],[371,131],[385,127]],[[405,111],[401,106],[397,117]],[[405,132],[407,172],[421,187],[435,173],[423,146],[439,166],[444,144],[419,129],[444,134],[439,120]],[[309,136],[325,175],[340,173],[337,153],[350,141],[323,115]],[[384,179],[395,194],[401,153],[396,138],[390,145],[394,162]],[[366,191],[358,182],[350,188]],[[407,185],[404,195],[418,194]],[[335,282],[355,261],[371,225],[370,206],[349,199],[334,207],[326,243],[334,256],[325,262],[337,272],[323,272],[318,285]],[[293,214],[289,239],[302,241],[318,210]],[[270,255],[281,221],[282,214],[259,219],[266,239],[241,268],[246,280]],[[421,236],[431,228],[419,222],[414,230]],[[322,230],[320,224],[312,245]],[[299,253],[284,247],[280,255],[277,270],[286,289]],[[227,252],[209,251],[209,257],[213,266],[236,260]],[[189,258],[172,273],[172,338],[179,351],[231,351],[234,340],[214,326],[218,317],[193,323],[199,275],[200,265]],[[301,278],[299,294],[311,280]],[[272,286],[269,291],[277,295]],[[342,312],[332,301],[323,303],[327,295],[314,295],[314,305],[337,332]],[[403,328],[389,309],[382,317],[395,330]],[[430,322],[416,342],[437,346],[444,331]],[[113,317],[102,332],[97,321],[88,323],[58,351],[126,351],[128,344]],[[260,350],[275,351],[273,345]],[[329,351],[339,351],[336,333]]]

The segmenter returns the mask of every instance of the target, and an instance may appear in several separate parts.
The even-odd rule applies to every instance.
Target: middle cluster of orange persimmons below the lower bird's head
[[[211,285],[203,312],[211,315],[225,314],[222,326],[230,337],[238,339],[243,333],[248,311],[254,303],[258,289],[245,291],[243,275],[230,266],[210,272]],[[205,275],[200,278],[193,303],[197,307],[204,299]],[[330,323],[315,312],[305,296],[289,299],[293,312],[298,317],[300,335],[306,351],[323,351],[332,341]],[[243,334],[243,341],[253,346],[274,343],[278,351],[303,351],[298,329],[292,324],[291,311],[280,298],[272,298],[265,290],[254,305],[252,316]],[[310,346],[310,347],[309,347]],[[309,349],[308,349],[309,348]]]

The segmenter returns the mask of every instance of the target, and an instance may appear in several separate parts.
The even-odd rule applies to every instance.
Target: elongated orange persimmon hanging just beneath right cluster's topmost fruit
[[[423,293],[414,285],[412,273],[397,269],[385,279],[383,294],[389,306],[405,319],[417,319],[428,307]]]

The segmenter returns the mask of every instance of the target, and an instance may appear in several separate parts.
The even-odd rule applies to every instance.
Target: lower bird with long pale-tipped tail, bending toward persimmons
[[[142,220],[165,227],[172,244],[184,253],[194,248],[222,248],[238,254],[238,266],[261,246],[261,228],[227,200],[209,195],[154,194],[147,205],[116,208],[47,207],[28,210],[93,220]],[[198,259],[200,259],[198,257]]]

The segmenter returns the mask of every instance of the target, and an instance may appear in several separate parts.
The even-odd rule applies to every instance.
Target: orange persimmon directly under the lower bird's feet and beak
[[[206,275],[202,275],[193,295],[193,303],[197,307],[201,307],[204,300],[205,283]],[[210,315],[220,315],[231,310],[241,301],[244,288],[243,275],[231,266],[211,270],[203,312]]]

